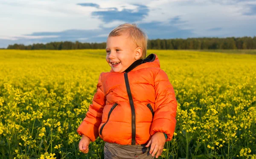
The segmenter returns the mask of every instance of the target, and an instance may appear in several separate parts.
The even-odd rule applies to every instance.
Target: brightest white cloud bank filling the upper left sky
[[[16,1],[16,0],[15,0]],[[90,17],[95,9],[61,1],[0,2],[1,36],[17,36],[32,32],[54,32],[67,29],[99,29],[101,20]]]

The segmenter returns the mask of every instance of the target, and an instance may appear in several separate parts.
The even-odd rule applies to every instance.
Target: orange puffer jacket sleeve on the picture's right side
[[[176,126],[177,101],[175,92],[166,72],[162,69],[155,76],[154,82],[156,101],[150,134],[165,133],[167,135],[166,141],[170,141]]]

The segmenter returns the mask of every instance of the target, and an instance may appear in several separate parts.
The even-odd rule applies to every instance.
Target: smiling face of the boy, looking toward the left
[[[126,34],[108,37],[106,52],[106,60],[114,72],[124,72],[140,58],[138,49]]]

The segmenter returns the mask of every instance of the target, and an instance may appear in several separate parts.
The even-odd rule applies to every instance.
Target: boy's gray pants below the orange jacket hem
[[[143,145],[119,145],[106,142],[104,145],[104,159],[154,159],[149,153],[150,146]]]

